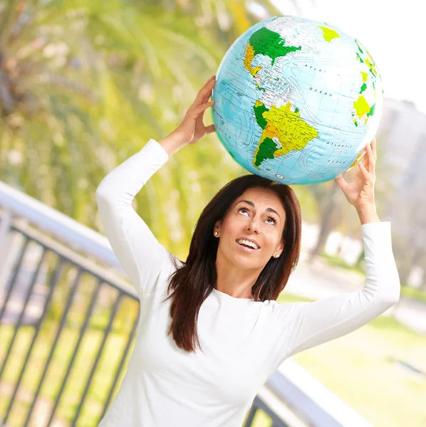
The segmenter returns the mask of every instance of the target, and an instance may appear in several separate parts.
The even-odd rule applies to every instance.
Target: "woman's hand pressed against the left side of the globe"
[[[205,110],[214,105],[214,101],[209,101],[209,97],[212,96],[215,83],[216,76],[213,75],[199,90],[182,123],[173,131],[173,133],[180,135],[186,144],[194,144],[215,131],[214,125],[204,126],[203,123]]]

